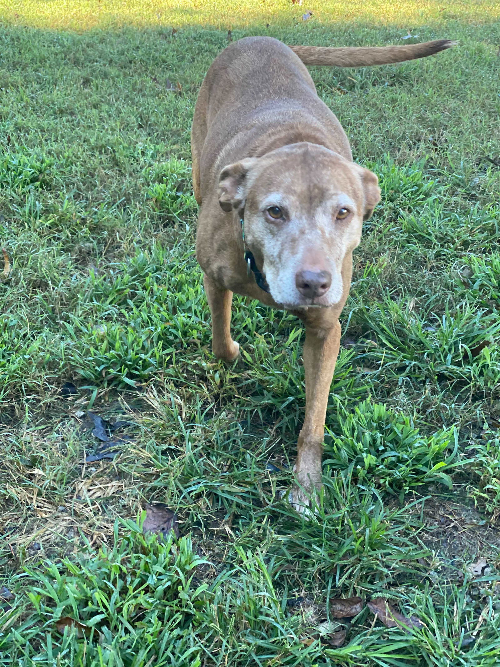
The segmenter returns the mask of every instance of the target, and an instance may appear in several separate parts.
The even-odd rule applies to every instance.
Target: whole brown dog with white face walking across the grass
[[[352,251],[380,199],[377,176],[352,161],[337,118],[305,65],[382,65],[453,46],[287,47],[247,37],[213,61],[199,91],[191,146],[201,206],[197,259],[205,272],[213,352],[233,361],[233,292],[305,323],[305,420],[292,492],[305,508],[321,488],[325,413],[339,352],[339,315]]]

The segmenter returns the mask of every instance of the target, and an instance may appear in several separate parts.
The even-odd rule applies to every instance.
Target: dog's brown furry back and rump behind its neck
[[[289,143],[321,143],[351,159],[340,123],[289,47],[271,37],[231,44],[213,61],[195,109],[191,137],[197,200],[203,197],[203,184],[237,153],[268,152],[273,142],[283,143],[283,134]]]

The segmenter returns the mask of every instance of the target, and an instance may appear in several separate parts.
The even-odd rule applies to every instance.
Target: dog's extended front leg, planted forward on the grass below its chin
[[[305,419],[297,444],[295,476],[297,485],[292,492],[296,510],[309,506],[308,496],[321,489],[321,457],[325,436],[325,415],[333,370],[339,354],[341,327],[339,321],[327,326],[307,326],[305,329]]]

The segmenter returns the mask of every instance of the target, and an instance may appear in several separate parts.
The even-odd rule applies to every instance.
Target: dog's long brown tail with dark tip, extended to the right
[[[382,47],[323,47],[291,46],[304,65],[335,65],[336,67],[364,67],[365,65],[389,65],[403,60],[414,60],[434,55],[457,44],[450,39],[435,39],[421,44]]]

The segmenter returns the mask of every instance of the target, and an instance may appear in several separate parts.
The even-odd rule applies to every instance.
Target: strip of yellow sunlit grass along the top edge
[[[391,2],[390,0],[26,0],[0,1],[0,20],[9,25],[74,29],[97,27],[152,27],[206,25],[249,27],[293,25],[305,11],[313,12],[309,25],[369,21],[375,25],[401,25],[409,29],[432,22],[489,22],[500,17],[500,3],[485,0]]]

